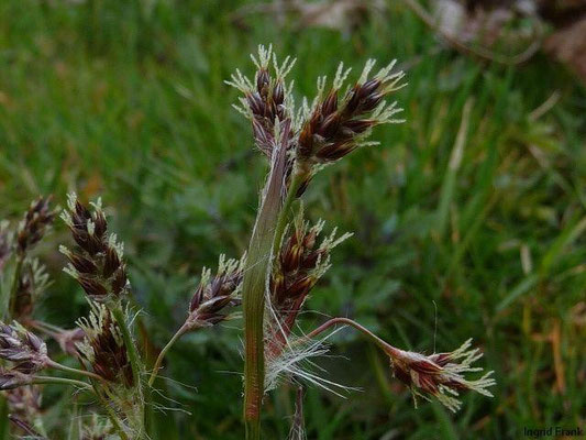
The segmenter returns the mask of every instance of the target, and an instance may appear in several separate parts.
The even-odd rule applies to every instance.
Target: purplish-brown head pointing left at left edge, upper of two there
[[[0,322],[0,359],[12,362],[13,370],[24,374],[41,371],[49,362],[47,345],[18,322]]]

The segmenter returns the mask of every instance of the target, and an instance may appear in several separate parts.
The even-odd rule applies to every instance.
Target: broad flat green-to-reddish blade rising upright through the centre
[[[285,130],[284,139],[288,136]],[[286,148],[275,150],[270,174],[261,198],[261,207],[248,244],[242,280],[244,311],[244,425],[246,440],[261,438],[261,408],[264,396],[264,315],[265,289],[270,273],[273,244],[285,178]],[[289,198],[289,197],[287,197]]]

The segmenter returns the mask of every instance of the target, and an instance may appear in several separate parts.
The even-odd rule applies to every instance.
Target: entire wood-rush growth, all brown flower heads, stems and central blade
[[[344,389],[311,369],[312,359],[327,352],[325,332],[336,326],[352,327],[374,342],[388,356],[394,375],[411,388],[413,398],[435,397],[455,411],[461,405],[460,392],[491,396],[487,391],[495,383],[490,373],[476,380],[465,377],[465,373],[482,370],[472,366],[482,354],[471,349],[469,340],[452,352],[424,355],[400,350],[345,317],[329,319],[307,334],[298,330],[303,304],[330,267],[331,251],[351,237],[338,234],[334,228],[322,238],[324,223],[306,219],[300,198],[324,166],[373,145],[368,138],[375,127],[403,122],[396,119],[401,111],[397,103],[387,102],[405,86],[403,73],[394,72],[395,63],[390,63],[372,74],[375,63],[368,61],[358,79],[345,86],[350,69],[340,65],[331,84],[319,78],[313,100],[303,99],[296,108],[294,85],[286,81],[295,61],[287,57],[279,64],[270,47],[261,46],[253,62],[253,79],[236,72],[228,82],[243,94],[236,108],[251,121],[256,147],[269,166],[247,252],[237,260],[221,255],[215,273],[202,271],[184,323],[152,364],[134,336],[141,317],[131,301],[123,245],[109,231],[100,200],[85,205],[70,194],[60,216],[75,242],[75,246],[59,249],[68,261],[65,272],[85,290],[90,306],[89,316],[80,318],[74,330],[32,317],[34,298],[46,287],[47,277],[29,252],[55,217],[49,200],[33,202],[16,229],[2,226],[0,267],[3,282],[11,282],[2,289],[0,358],[5,364],[0,387],[5,392],[4,416],[19,433],[46,438],[37,413],[15,409],[26,406],[26,399],[38,399],[38,385],[62,384],[92,395],[107,417],[91,418],[80,430],[86,437],[79,438],[152,438],[153,393],[165,354],[184,334],[241,315],[247,440],[261,439],[263,400],[284,382],[334,393]],[[236,309],[240,305],[242,314]],[[77,366],[56,362],[35,333],[57,341]],[[65,376],[45,373],[51,370]],[[290,439],[305,438],[302,396],[299,389]]]

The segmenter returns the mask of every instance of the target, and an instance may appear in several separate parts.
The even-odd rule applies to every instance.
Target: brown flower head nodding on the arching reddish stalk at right
[[[475,391],[488,397],[493,394],[486,389],[496,384],[491,376],[494,372],[484,374],[478,380],[469,381],[464,373],[479,372],[483,369],[471,366],[482,358],[478,349],[471,350],[472,339],[461,348],[449,353],[431,354],[429,356],[399,349],[389,349],[388,355],[395,377],[411,388],[416,396],[430,399],[435,397],[446,408],[456,411],[461,402],[456,398],[460,392]],[[417,400],[416,400],[417,404]]]

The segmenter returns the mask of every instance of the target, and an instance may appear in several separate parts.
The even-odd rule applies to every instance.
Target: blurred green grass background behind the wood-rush
[[[321,173],[308,215],[354,231],[314,289],[302,327],[350,316],[406,349],[474,338],[496,371],[495,398],[457,415],[414,409],[387,360],[354,332],[332,339],[327,377],[346,399],[309,389],[310,439],[518,439],[523,427],[584,428],[586,415],[586,94],[538,54],[522,66],[451,51],[401,2],[344,31],[252,13],[244,1],[0,1],[0,218],[31,199],[101,196],[125,242],[153,341],[173,334],[202,266],[239,256],[266,173],[224,85],[273,43],[298,58],[297,96],[340,61],[398,58],[408,122]],[[355,72],[356,74],[356,72]],[[533,110],[556,94],[545,114]],[[469,102],[469,114],[464,109]],[[467,119],[460,166],[450,167]],[[469,117],[469,118],[467,118]],[[57,222],[37,252],[55,280],[36,314],[73,327],[87,311],[60,268]],[[165,439],[241,439],[242,370],[233,321],[181,340],[164,374]],[[435,330],[436,327],[436,330]],[[267,439],[284,439],[295,389],[266,402]],[[46,388],[47,427],[65,438],[67,396]],[[186,414],[191,413],[191,415]],[[60,416],[58,416],[60,415]]]

